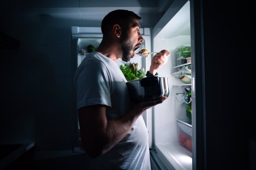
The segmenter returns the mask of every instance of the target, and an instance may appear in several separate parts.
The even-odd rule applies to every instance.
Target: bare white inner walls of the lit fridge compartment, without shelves
[[[175,94],[185,93],[184,88],[190,86],[173,76],[177,68],[175,48],[190,45],[190,3],[189,1],[169,18],[167,24],[153,37],[153,50],[166,49],[171,52],[167,64],[158,70],[160,76],[168,77],[170,94],[163,103],[154,107],[153,128],[154,147],[170,162],[175,169],[192,169],[192,153],[182,147],[178,139],[177,119],[186,119],[186,104],[178,103]]]

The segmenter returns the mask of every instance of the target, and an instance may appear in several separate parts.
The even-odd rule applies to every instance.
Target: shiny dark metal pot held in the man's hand
[[[132,103],[151,101],[161,96],[169,96],[168,77],[145,77],[128,81],[129,95]]]

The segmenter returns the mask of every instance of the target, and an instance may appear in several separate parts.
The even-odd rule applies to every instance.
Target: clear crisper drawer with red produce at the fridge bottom
[[[187,119],[177,119],[178,140],[181,146],[192,152],[192,125]]]

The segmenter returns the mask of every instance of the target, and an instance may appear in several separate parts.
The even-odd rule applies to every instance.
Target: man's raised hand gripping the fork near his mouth
[[[160,52],[161,53],[157,53],[151,60],[149,72],[152,75],[155,75],[157,73],[157,70],[168,61],[168,56],[170,55],[170,52],[167,50],[162,50]]]

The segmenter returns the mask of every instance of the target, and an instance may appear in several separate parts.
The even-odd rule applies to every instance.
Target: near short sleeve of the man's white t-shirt
[[[102,61],[91,59],[83,63],[75,78],[77,109],[98,104],[111,107],[110,77]]]

